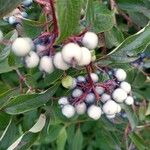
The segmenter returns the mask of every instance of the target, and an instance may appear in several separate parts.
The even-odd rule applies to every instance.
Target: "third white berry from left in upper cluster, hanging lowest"
[[[43,56],[40,60],[39,69],[46,73],[52,73],[54,71],[52,58],[49,56]]]

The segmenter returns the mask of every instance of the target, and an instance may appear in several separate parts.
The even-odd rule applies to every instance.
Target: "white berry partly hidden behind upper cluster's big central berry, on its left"
[[[57,52],[53,59],[56,68],[61,70],[69,69],[69,65],[63,60],[61,52]]]

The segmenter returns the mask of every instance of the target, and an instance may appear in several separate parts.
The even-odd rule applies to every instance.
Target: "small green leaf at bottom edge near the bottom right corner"
[[[135,132],[132,132],[129,134],[129,137],[138,150],[146,150],[144,139],[142,139],[139,135],[137,135]]]

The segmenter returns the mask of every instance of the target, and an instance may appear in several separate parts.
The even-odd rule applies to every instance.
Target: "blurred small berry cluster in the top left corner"
[[[28,14],[26,13],[25,9],[32,5],[33,0],[24,0],[22,2],[21,7],[14,9],[11,13],[7,16],[3,17],[3,20],[8,22],[11,25],[17,25],[21,22],[22,18],[27,18]]]

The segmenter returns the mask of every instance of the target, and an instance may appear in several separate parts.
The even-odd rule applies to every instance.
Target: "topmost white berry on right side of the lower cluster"
[[[127,74],[123,69],[117,69],[114,75],[118,81],[124,81],[127,77]]]

